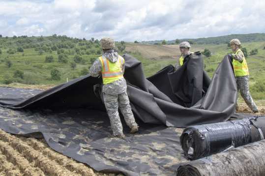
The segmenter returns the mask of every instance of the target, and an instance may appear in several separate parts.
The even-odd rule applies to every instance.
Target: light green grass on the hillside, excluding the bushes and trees
[[[28,37],[26,39],[0,38],[0,86],[3,86],[3,83],[7,79],[10,79],[11,82],[19,82],[22,85],[59,85],[66,82],[67,78],[68,80],[71,80],[81,76],[81,70],[84,68],[89,69],[89,67],[91,66],[90,60],[98,58],[100,56],[100,54],[86,54],[86,51],[99,50],[99,44],[95,42],[82,41],[80,39],[72,39],[69,37],[43,37],[43,41],[39,41],[39,38],[40,37]],[[32,47],[24,48],[24,53],[16,52],[13,55],[7,54],[7,50],[9,48],[17,49],[17,47],[23,45],[21,44],[21,41],[24,40],[27,40],[27,44],[37,46],[47,45],[47,47],[51,47],[58,43],[71,43],[73,45],[71,49],[64,48],[65,52],[71,50],[71,55],[68,54],[68,63],[58,62],[57,51],[52,51],[51,53],[44,52],[43,55],[39,55],[38,50],[35,51],[35,48]],[[80,43],[85,43],[86,45],[80,45]],[[89,45],[89,47],[84,48],[85,46],[87,46],[87,44]],[[134,44],[129,45],[131,46]],[[142,46],[143,44],[138,45]],[[150,47],[151,46],[165,48],[164,46],[150,45]],[[248,68],[250,71],[249,85],[252,97],[255,100],[265,100],[265,91],[263,90],[263,87],[265,87],[265,42],[242,43],[242,47],[247,48],[248,53],[253,49],[259,50],[259,53],[257,55],[252,55],[247,58]],[[76,48],[80,49],[81,52],[84,51],[83,54],[81,52],[73,52],[73,50]],[[227,44],[204,44],[192,45],[191,51],[203,51],[205,48],[209,49],[212,54],[210,57],[204,58],[204,63],[206,66],[205,70],[208,75],[212,77],[215,69],[222,61],[224,56],[228,53],[231,53],[231,48],[228,48]],[[166,56],[162,59],[146,59],[139,51],[130,51],[129,54],[142,62],[146,77],[155,74],[157,71],[161,70],[169,64],[175,65],[177,62],[177,59],[172,59],[172,57],[167,58]],[[54,62],[45,62],[45,57],[48,55],[52,55],[54,57]],[[70,62],[73,61],[75,55],[81,56],[85,60],[85,63],[77,63],[77,67],[75,69],[72,69]],[[12,62],[12,66],[10,68],[7,67],[6,60],[10,60]],[[50,72],[53,68],[58,69],[61,74],[61,79],[58,81],[51,80]],[[13,77],[16,70],[21,70],[24,72],[23,79]]]

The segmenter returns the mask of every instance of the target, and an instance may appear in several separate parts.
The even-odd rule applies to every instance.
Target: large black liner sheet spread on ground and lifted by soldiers
[[[210,82],[201,53],[176,71],[169,65],[147,79],[141,62],[123,57],[127,93],[140,125],[140,132],[131,135],[123,121],[126,141],[112,137],[100,98],[102,79],[89,75],[46,91],[0,88],[0,128],[12,134],[38,134],[34,137],[44,137],[56,151],[96,171],[176,175],[172,166],[186,160],[179,145],[180,129],[175,127],[235,116],[231,59],[222,60]]]

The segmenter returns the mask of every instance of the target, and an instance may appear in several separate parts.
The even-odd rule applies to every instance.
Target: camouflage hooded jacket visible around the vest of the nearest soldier
[[[103,56],[109,59],[111,62],[118,61],[118,53],[114,52],[114,50],[108,50],[104,52]],[[122,65],[123,73],[124,73],[124,68],[125,64]],[[92,77],[99,77],[101,76],[101,71],[102,71],[101,62],[99,59],[96,59],[93,65],[90,67],[89,73]],[[104,93],[115,95],[126,91],[126,89],[127,89],[126,81],[124,78],[121,78],[113,83],[103,85],[102,91]]]

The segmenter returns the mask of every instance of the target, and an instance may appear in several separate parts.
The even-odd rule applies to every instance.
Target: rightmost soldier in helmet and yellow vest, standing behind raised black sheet
[[[249,93],[249,86],[248,86],[249,72],[244,54],[240,50],[241,43],[236,38],[230,41],[230,46],[233,50],[232,58],[233,58],[234,73],[236,77],[237,91],[240,91],[240,94],[243,97],[246,104],[248,105],[248,107],[254,113],[258,113],[259,110]],[[236,109],[238,110],[237,104],[236,104]]]

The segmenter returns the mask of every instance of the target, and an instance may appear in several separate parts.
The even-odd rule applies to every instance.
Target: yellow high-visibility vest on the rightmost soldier
[[[237,55],[239,51],[241,51],[241,50],[238,49],[235,54]],[[233,59],[233,67],[234,67],[234,73],[235,73],[236,77],[249,75],[245,56],[244,56],[243,61],[241,63],[238,60]]]

